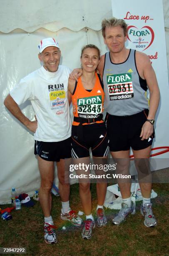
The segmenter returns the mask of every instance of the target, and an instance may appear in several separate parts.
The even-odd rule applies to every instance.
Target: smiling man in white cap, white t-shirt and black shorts
[[[82,220],[70,209],[70,184],[65,183],[64,179],[64,159],[71,157],[71,120],[67,98],[70,69],[59,65],[61,52],[54,38],[41,40],[38,47],[38,57],[43,66],[21,79],[7,95],[4,104],[21,123],[35,133],[35,154],[38,154],[41,176],[40,204],[45,215],[45,242],[52,244],[57,243],[50,215],[54,161],[57,161],[62,200],[61,218],[74,225],[81,225]],[[31,100],[37,121],[30,121],[21,112],[18,105],[26,100]]]

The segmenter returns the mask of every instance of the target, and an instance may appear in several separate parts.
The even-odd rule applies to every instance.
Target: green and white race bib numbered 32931
[[[107,75],[110,100],[128,100],[134,97],[132,73]]]

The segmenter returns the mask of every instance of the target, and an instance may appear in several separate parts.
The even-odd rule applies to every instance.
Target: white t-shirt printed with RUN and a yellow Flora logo
[[[37,118],[37,141],[63,141],[71,136],[67,86],[70,69],[59,65],[57,72],[44,67],[28,74],[10,92],[20,105],[30,100]]]

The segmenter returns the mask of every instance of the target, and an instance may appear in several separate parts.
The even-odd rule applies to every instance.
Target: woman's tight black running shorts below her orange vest
[[[72,125],[72,158],[88,157],[89,148],[95,157],[108,156],[109,146],[104,123]]]

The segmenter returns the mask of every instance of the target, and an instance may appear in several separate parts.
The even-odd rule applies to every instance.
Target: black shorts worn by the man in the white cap
[[[71,137],[58,142],[35,141],[34,154],[46,161],[71,158]]]

